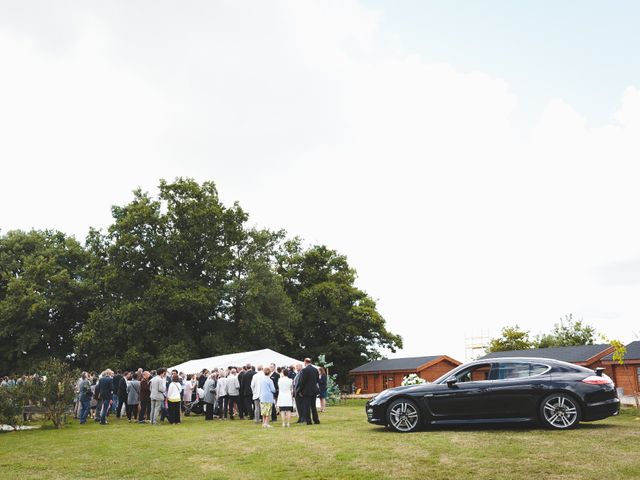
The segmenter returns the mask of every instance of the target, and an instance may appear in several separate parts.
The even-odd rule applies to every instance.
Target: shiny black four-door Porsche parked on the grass
[[[618,414],[615,386],[602,371],[545,358],[478,360],[433,383],[383,391],[367,402],[367,419],[398,432],[427,425],[534,421],[568,429]]]

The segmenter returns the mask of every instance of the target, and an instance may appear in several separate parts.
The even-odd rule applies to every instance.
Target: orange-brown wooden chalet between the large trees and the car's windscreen
[[[365,363],[351,370],[349,375],[354,377],[356,391],[370,394],[399,387],[402,379],[411,373],[432,382],[458,365],[462,363],[447,355],[389,358]]]

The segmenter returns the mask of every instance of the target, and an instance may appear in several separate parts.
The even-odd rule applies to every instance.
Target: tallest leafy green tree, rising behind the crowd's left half
[[[101,302],[78,336],[83,358],[133,367],[221,352],[244,211],[189,179],[161,181],[158,198],[137,190],[112,211],[106,234],[88,238]]]

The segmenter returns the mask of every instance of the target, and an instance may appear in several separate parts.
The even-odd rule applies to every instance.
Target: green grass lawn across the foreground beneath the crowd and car
[[[640,418],[629,410],[566,432],[502,426],[397,434],[369,425],[363,405],[330,407],[320,425],[288,429],[199,416],[181,425],[112,419],[4,433],[0,478],[640,478]]]

